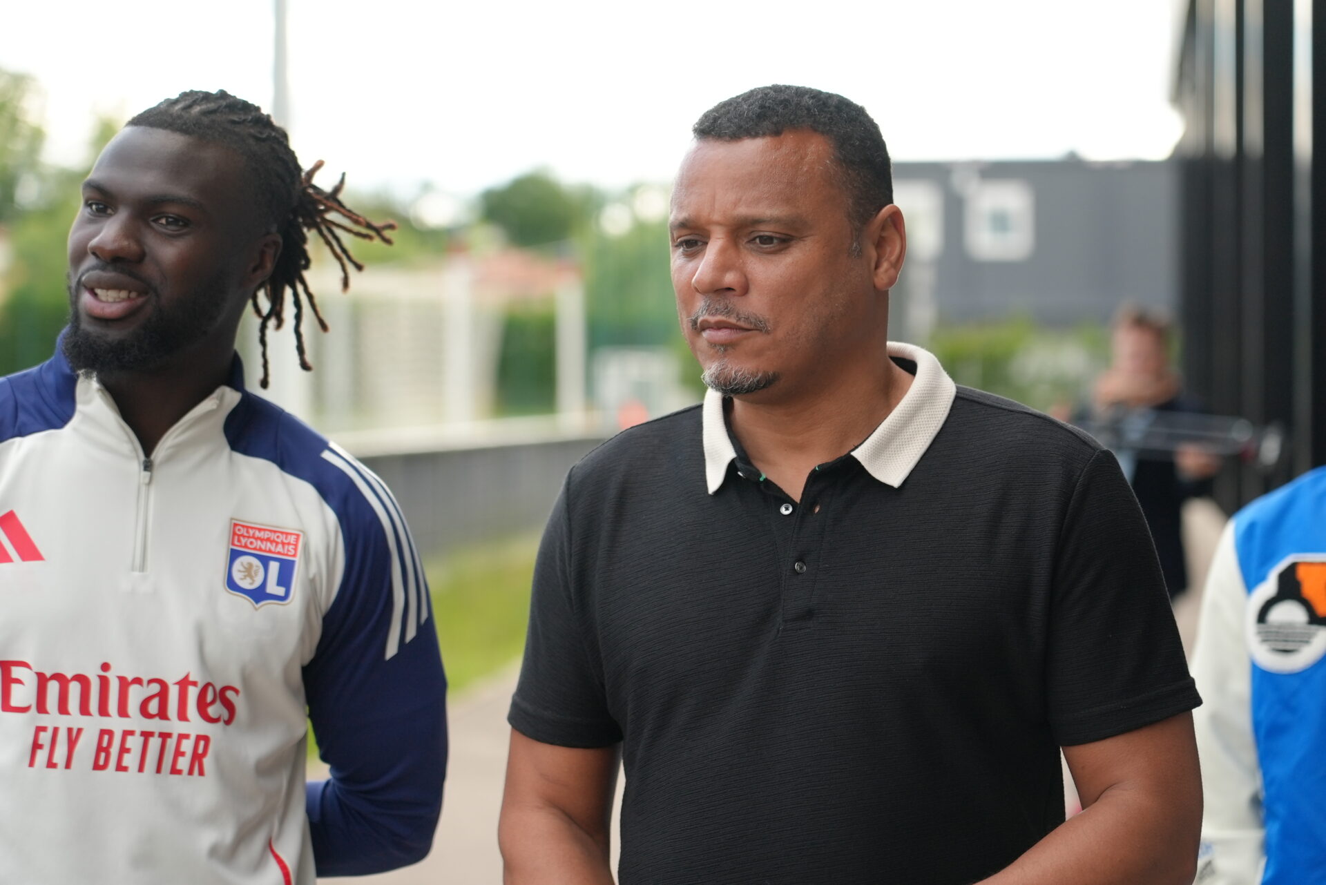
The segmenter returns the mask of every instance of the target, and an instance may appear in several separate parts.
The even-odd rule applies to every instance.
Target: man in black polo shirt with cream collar
[[[704,405],[569,474],[507,882],[1191,882],[1199,698],[1114,457],[888,343],[888,155],[842,97],[700,118],[672,284]],[[1086,811],[1063,823],[1058,750]]]

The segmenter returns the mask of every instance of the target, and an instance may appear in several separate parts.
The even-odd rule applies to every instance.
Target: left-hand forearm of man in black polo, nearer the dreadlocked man
[[[606,829],[552,807],[505,807],[497,831],[505,885],[614,885]]]

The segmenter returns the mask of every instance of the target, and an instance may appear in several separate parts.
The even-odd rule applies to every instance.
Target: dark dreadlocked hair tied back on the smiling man
[[[281,234],[281,254],[276,260],[272,276],[253,290],[252,298],[253,313],[261,321],[257,330],[263,348],[260,383],[265,388],[271,379],[267,329],[268,326],[280,329],[284,325],[286,291],[290,293],[294,306],[294,348],[300,355],[300,368],[312,371],[313,366],[304,346],[305,302],[322,331],[328,330],[328,323],[304,276],[309,269],[309,232],[317,233],[341,266],[341,291],[346,291],[350,287],[350,268],[363,270],[363,265],[350,254],[341,234],[347,233],[361,240],[381,240],[390,245],[391,237],[387,236],[387,231],[394,231],[395,223],[375,224],[346,207],[341,201],[343,174],[330,191],[314,184],[313,176],[322,168],[322,160],[308,171],[301,170],[285,130],[257,105],[236,98],[225,90],[180,93],[138,114],[126,126],[147,126],[190,135],[228,147],[244,159],[255,179],[264,223]],[[260,295],[265,298],[265,306]]]

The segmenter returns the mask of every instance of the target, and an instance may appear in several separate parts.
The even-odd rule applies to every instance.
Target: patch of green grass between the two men
[[[520,657],[537,551],[538,537],[522,535],[424,558],[450,697]],[[309,759],[317,756],[310,730]]]

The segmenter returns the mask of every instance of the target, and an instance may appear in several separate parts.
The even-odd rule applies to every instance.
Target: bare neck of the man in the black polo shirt
[[[884,354],[851,371],[815,379],[785,396],[737,399],[732,431],[751,461],[800,501],[806,476],[859,445],[888,417],[912,376]],[[776,393],[776,387],[768,393]]]

